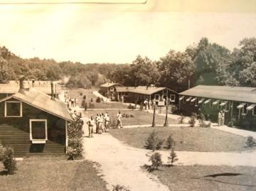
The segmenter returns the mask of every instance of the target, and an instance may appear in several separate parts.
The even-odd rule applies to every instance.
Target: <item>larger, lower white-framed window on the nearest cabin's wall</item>
[[[47,119],[30,119],[29,133],[32,143],[46,143],[47,136]]]

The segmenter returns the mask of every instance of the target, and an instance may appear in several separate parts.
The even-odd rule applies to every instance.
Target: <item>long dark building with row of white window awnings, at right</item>
[[[237,126],[256,130],[256,87],[198,85],[179,94],[179,108],[184,114],[200,111],[211,121],[225,111],[225,124],[231,119]]]

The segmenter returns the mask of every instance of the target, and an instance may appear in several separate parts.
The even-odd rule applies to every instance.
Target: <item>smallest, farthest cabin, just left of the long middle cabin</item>
[[[109,98],[110,100],[114,100],[117,95],[116,87],[121,86],[118,83],[105,83],[100,86],[100,94]]]

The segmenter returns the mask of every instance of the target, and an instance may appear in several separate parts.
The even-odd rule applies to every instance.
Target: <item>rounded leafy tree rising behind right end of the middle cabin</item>
[[[157,63],[160,79],[159,84],[164,87],[177,89],[181,84],[187,84],[193,74],[193,63],[188,53],[170,50]]]

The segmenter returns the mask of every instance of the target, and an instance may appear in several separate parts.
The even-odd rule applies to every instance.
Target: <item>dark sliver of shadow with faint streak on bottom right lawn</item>
[[[238,186],[244,186],[244,187],[256,187],[256,185],[243,185],[243,184],[238,184],[238,183],[233,183],[233,182],[225,182],[222,180],[214,180],[214,179],[207,179],[207,178],[216,178],[216,177],[222,177],[222,176],[228,176],[228,177],[233,177],[233,176],[238,176],[238,175],[244,175],[241,173],[219,173],[219,174],[213,174],[213,175],[206,175],[201,178],[191,178],[191,179],[196,179],[196,180],[205,180],[205,181],[210,181],[210,182],[220,182],[226,185],[238,185]]]

